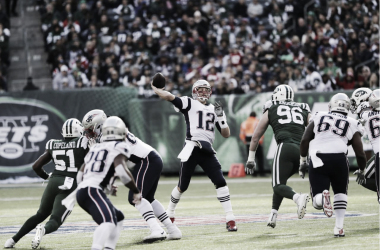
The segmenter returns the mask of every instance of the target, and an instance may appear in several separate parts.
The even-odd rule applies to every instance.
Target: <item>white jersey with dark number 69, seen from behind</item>
[[[336,112],[317,112],[310,118],[314,121],[314,139],[309,151],[319,153],[347,153],[347,143],[356,132],[364,133],[362,124]]]

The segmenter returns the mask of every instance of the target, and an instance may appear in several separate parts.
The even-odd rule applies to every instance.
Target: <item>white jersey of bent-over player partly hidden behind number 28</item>
[[[127,133],[126,143],[129,145],[130,155],[129,160],[133,163],[140,163],[146,158],[150,152],[154,150],[150,145],[146,144],[131,132]]]

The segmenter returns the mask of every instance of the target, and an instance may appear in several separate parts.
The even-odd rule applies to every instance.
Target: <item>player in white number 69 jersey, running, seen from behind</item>
[[[327,217],[333,215],[330,200],[330,183],[334,191],[335,227],[334,237],[344,237],[344,215],[347,208],[349,164],[347,145],[352,144],[361,171],[366,164],[361,136],[362,124],[347,117],[350,99],[346,94],[334,95],[329,102],[329,112],[317,112],[301,141],[300,175],[309,169],[310,191],[313,206],[323,209]],[[309,164],[307,154],[309,152]]]

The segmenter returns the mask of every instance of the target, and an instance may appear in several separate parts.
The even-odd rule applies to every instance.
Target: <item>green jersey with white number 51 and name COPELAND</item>
[[[88,139],[84,136],[61,140],[49,140],[46,150],[55,164],[53,175],[75,178],[81,168],[88,148]]]

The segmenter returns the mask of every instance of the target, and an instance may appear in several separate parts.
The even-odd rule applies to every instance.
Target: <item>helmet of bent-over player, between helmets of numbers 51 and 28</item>
[[[98,138],[102,135],[102,125],[107,119],[106,113],[101,109],[88,112],[82,120],[84,134],[87,138]]]

